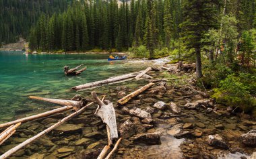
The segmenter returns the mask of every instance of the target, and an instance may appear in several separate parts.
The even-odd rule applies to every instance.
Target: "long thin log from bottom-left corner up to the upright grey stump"
[[[49,133],[49,131],[55,129],[57,126],[61,125],[62,123],[64,123],[65,121],[71,119],[72,117],[75,117],[76,115],[79,115],[80,113],[83,113],[87,107],[89,107],[90,105],[92,105],[92,103],[89,103],[88,105],[82,107],[81,109],[79,109],[79,111],[75,111],[75,113],[71,113],[70,115],[68,115],[67,117],[61,119],[61,121],[55,123],[54,125],[52,125],[51,127],[45,129],[44,131],[40,132],[39,134],[37,134],[36,136],[26,140],[25,142],[22,142],[21,144],[19,144],[18,146],[15,146],[14,148],[11,148],[11,150],[5,152],[5,154],[2,154],[0,156],[0,159],[5,159],[8,158],[9,156],[11,156],[11,154],[14,154],[15,152],[17,152],[18,150],[20,150],[21,148],[23,148],[24,146],[30,144],[31,142],[33,142],[34,140],[40,138],[41,136],[43,136],[44,134]]]

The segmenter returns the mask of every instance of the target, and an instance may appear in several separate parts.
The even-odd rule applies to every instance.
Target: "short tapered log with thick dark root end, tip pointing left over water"
[[[88,101],[86,99],[82,99],[81,101],[72,101],[72,100],[65,100],[65,99],[49,99],[49,98],[42,98],[42,97],[35,97],[35,96],[30,96],[30,99],[37,99],[40,101],[48,101],[51,103],[59,104],[59,105],[70,105],[73,107],[84,107]]]

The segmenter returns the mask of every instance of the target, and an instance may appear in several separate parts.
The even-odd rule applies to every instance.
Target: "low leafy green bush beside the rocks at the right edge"
[[[224,81],[220,82],[220,88],[214,89],[212,97],[218,103],[241,107],[245,112],[251,112],[256,108],[256,102],[249,93],[249,87],[234,74],[230,74]]]

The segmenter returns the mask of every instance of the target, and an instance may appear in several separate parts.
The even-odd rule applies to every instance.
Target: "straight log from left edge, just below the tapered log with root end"
[[[40,113],[40,114],[37,114],[37,115],[32,115],[30,117],[24,117],[22,119],[18,119],[18,120],[15,120],[15,121],[10,121],[10,122],[7,122],[7,123],[2,123],[2,124],[0,124],[0,128],[7,127],[7,126],[13,125],[15,123],[24,123],[26,121],[31,121],[31,120],[34,120],[34,119],[39,119],[39,118],[42,118],[42,117],[47,117],[47,116],[53,115],[55,113],[61,113],[63,111],[67,111],[67,110],[72,109],[72,108],[73,108],[72,106],[65,106],[65,107],[53,109],[51,111],[46,111],[44,113]]]

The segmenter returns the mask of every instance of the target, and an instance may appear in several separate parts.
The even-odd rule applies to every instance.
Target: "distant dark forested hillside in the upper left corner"
[[[52,15],[67,9],[68,0],[0,0],[0,45],[28,38],[41,13]]]

